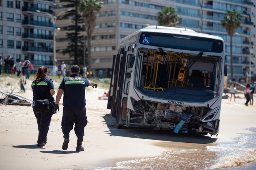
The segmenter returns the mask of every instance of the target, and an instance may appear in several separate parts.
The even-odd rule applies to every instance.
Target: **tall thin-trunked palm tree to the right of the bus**
[[[227,31],[227,35],[230,36],[230,70],[231,79],[233,79],[233,51],[232,51],[232,37],[234,35],[235,29],[240,27],[242,16],[235,9],[232,11],[227,11],[227,15],[221,20],[221,25]]]

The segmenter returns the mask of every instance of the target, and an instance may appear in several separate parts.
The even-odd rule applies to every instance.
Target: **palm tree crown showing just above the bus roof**
[[[157,13],[157,20],[159,25],[167,27],[172,25],[173,27],[176,27],[180,17],[176,14],[176,9],[174,7],[165,7]]]

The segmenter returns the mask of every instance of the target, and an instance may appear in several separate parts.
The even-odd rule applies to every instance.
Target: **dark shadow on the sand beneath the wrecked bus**
[[[126,128],[117,129],[115,119],[110,114],[103,116],[109,131],[106,134],[110,136],[120,136],[128,138],[140,138],[151,139],[158,141],[170,141],[170,142],[186,142],[186,143],[213,143],[217,141],[217,138],[210,136],[198,136],[195,134],[182,134],[173,133],[167,130],[155,131],[149,128]]]

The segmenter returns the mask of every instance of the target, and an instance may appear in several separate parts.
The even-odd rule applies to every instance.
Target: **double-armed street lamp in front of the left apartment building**
[[[61,11],[60,13],[58,13],[58,15],[56,15],[56,16],[53,16],[52,14],[50,14],[50,13],[48,13],[48,12],[44,12],[44,11],[40,11],[40,10],[35,10],[35,12],[39,12],[39,13],[45,13],[45,14],[47,14],[47,15],[49,15],[50,16],[50,18],[52,19],[52,22],[53,22],[53,29],[54,29],[54,32],[53,32],[53,70],[54,70],[54,68],[55,68],[55,62],[56,62],[56,31],[59,31],[60,30],[60,28],[56,28],[56,20],[57,20],[57,18],[61,15],[61,14],[63,14],[63,13],[65,13],[65,12],[69,12],[69,11],[71,11],[72,10],[72,8],[70,8],[70,9],[67,9],[67,10],[64,10],[64,11]]]

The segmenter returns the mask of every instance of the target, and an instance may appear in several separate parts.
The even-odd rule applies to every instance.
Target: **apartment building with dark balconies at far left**
[[[53,64],[54,0],[1,0],[0,55],[13,57],[16,65],[29,58],[35,68]]]

